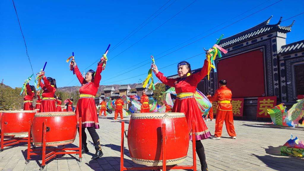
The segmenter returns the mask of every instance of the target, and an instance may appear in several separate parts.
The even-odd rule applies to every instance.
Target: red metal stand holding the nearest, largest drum
[[[195,151],[195,122],[192,121],[192,151],[193,151],[193,165],[192,166],[166,166],[166,124],[162,125],[162,154],[163,154],[163,166],[123,166],[123,155],[124,155],[124,131],[125,122],[121,123],[121,146],[120,146],[120,170],[160,170],[165,171],[166,169],[193,169],[196,171],[196,151]],[[126,136],[127,137],[127,136]]]

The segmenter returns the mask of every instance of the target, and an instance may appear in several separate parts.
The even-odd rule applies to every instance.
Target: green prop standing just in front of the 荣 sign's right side
[[[284,103],[268,109],[273,124],[280,126],[293,126],[292,120],[288,118],[288,112]]]

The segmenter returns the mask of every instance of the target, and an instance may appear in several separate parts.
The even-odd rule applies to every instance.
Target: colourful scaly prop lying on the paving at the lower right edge
[[[299,140],[297,137],[291,138],[283,145],[281,148],[281,155],[283,156],[294,156],[294,157],[303,157],[304,156],[304,142]]]

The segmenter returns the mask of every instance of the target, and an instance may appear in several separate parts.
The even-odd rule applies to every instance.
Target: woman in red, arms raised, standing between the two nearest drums
[[[90,133],[96,153],[93,155],[91,159],[98,159],[100,158],[103,153],[100,145],[99,136],[96,133],[95,129],[99,129],[99,123],[98,123],[98,117],[97,117],[97,110],[95,105],[95,95],[98,91],[99,82],[101,80],[100,73],[102,72],[102,65],[104,63],[104,58],[100,59],[100,62],[98,62],[97,70],[96,72],[90,69],[86,75],[85,78],[82,77],[81,72],[78,69],[78,66],[76,65],[76,62],[74,61],[72,63],[72,67],[75,70],[76,76],[81,83],[80,87],[80,98],[77,103],[77,107],[75,110],[76,117],[79,119],[81,117],[82,119],[82,150],[81,153],[87,153],[89,152],[87,147],[87,135],[85,133],[85,128],[88,129],[88,132]]]

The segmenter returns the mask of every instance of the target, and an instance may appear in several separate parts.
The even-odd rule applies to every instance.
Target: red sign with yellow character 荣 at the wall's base
[[[277,105],[277,96],[258,97],[257,98],[257,117],[270,117],[268,109]]]

